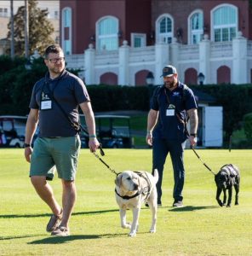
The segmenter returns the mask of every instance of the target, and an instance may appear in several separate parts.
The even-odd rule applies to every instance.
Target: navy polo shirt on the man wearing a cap
[[[187,138],[185,125],[177,118],[175,111],[173,115],[168,114],[170,106],[175,106],[183,120],[186,119],[187,110],[198,108],[192,90],[185,84],[178,82],[177,88],[172,91],[166,89],[164,85],[159,86],[154,91],[151,101],[151,108],[159,111],[158,123],[152,132],[153,138],[184,142]]]

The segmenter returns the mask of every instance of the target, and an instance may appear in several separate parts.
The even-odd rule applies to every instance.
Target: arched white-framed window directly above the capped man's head
[[[156,32],[158,42],[170,44],[174,34],[173,19],[169,15],[161,15],[156,21]]]

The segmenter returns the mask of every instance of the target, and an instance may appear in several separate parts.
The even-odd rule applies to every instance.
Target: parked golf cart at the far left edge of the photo
[[[25,143],[26,117],[0,116],[0,147],[22,148]]]

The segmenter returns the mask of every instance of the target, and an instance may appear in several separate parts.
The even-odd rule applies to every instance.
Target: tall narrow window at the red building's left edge
[[[62,48],[66,55],[72,54],[72,9],[62,10]]]

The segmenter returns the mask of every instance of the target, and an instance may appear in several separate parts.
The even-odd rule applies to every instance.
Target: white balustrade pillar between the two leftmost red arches
[[[129,45],[126,40],[123,41],[123,45],[119,48],[119,78],[118,84],[120,85],[132,85],[129,84]]]

